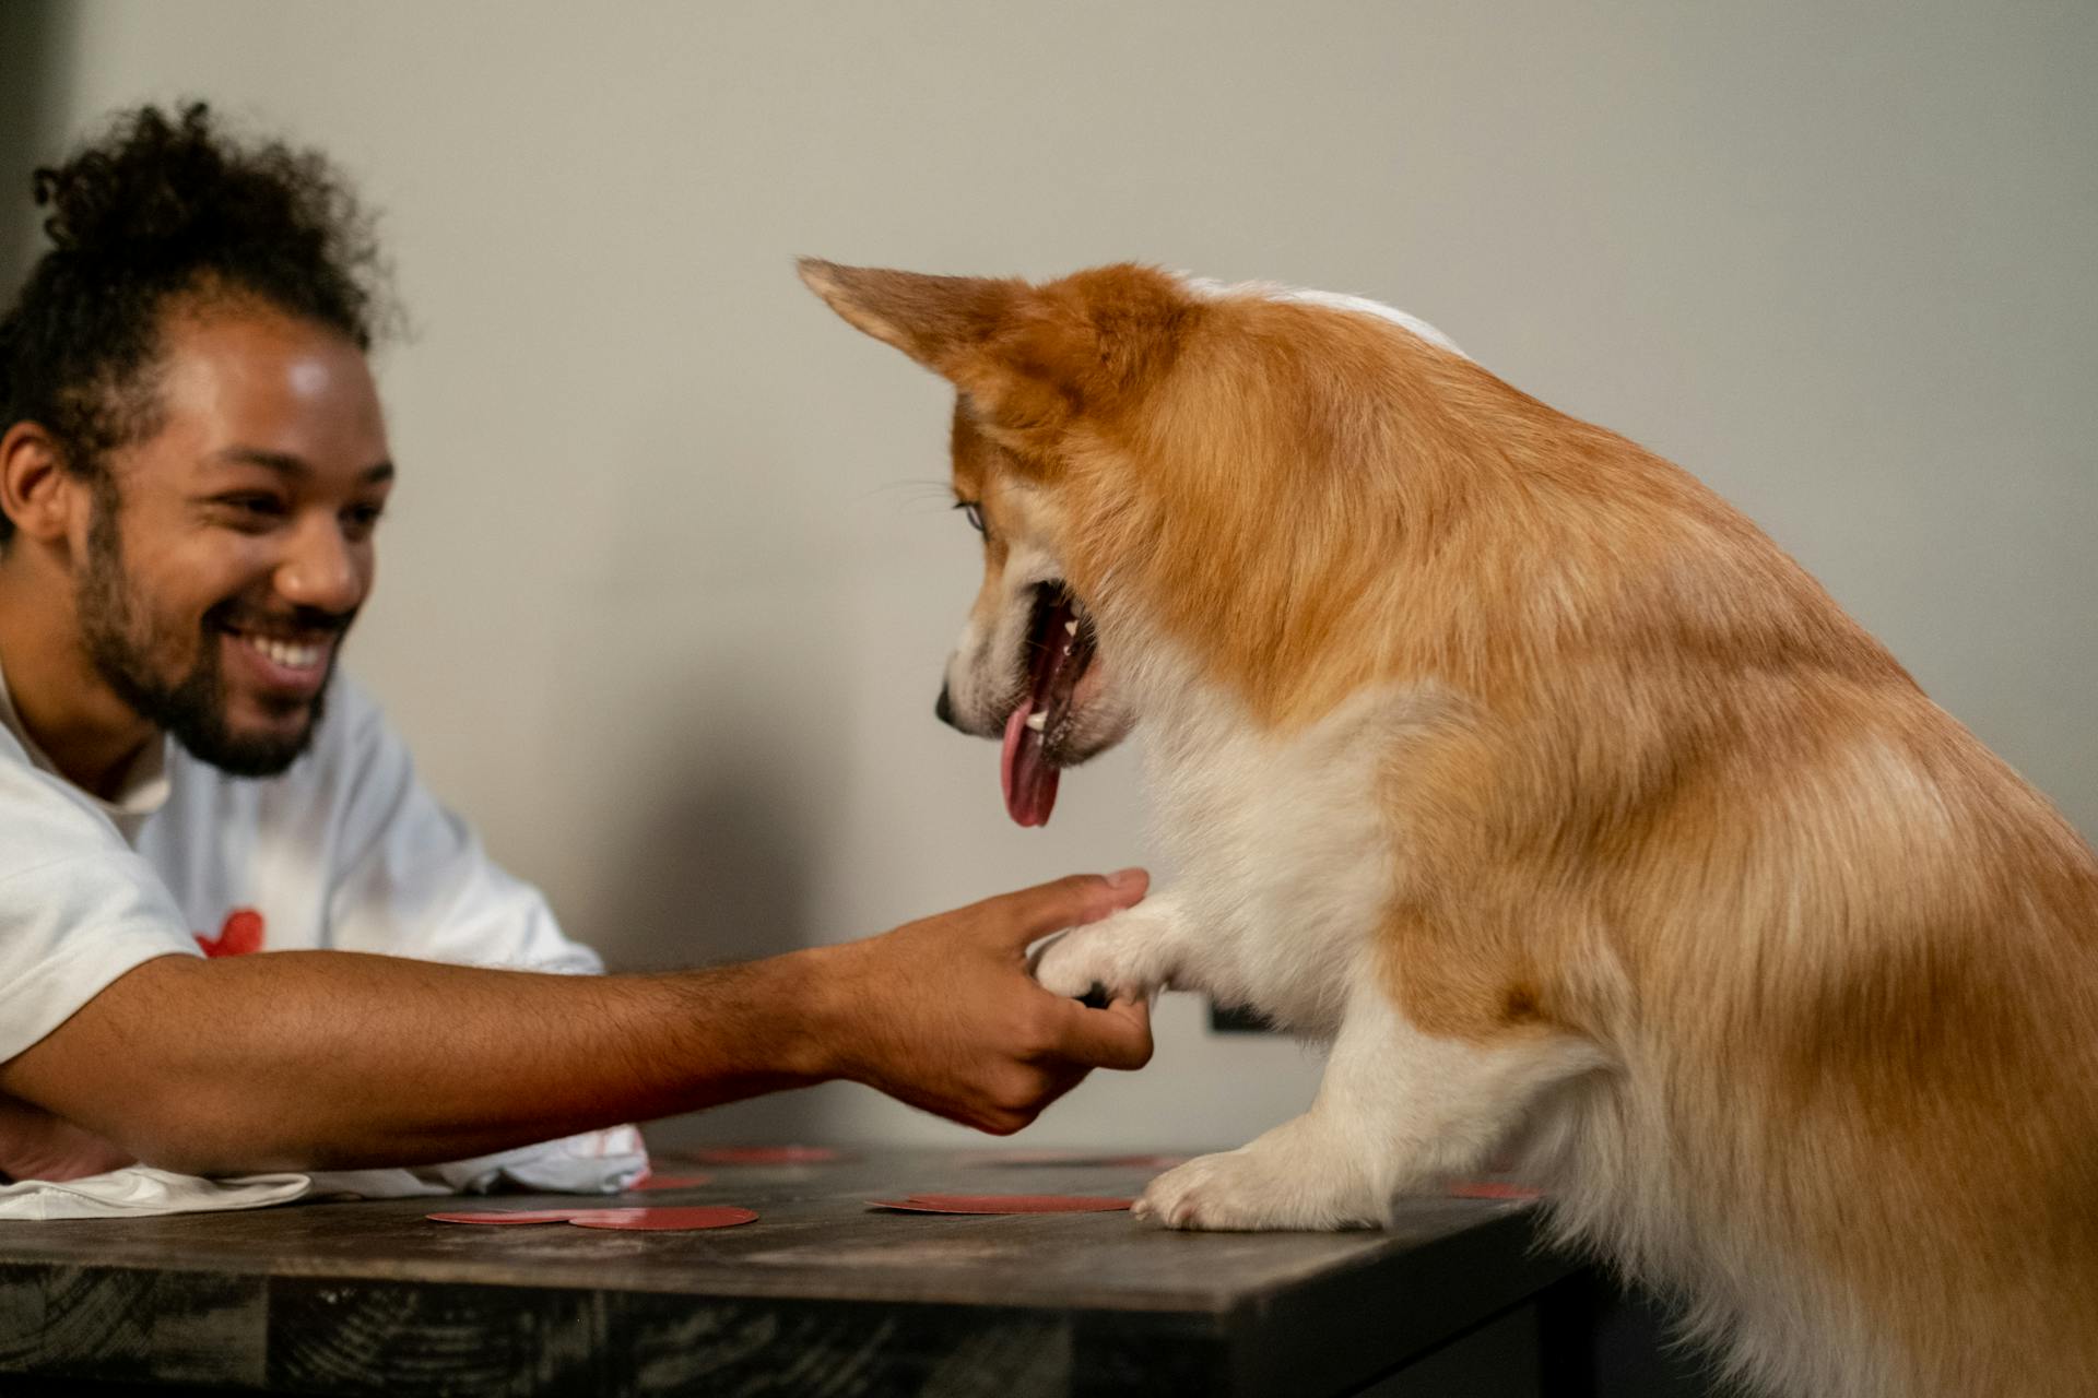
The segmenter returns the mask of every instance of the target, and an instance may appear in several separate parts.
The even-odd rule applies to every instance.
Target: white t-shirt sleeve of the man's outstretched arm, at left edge
[[[157,956],[201,956],[159,874],[0,752],[0,1063]]]

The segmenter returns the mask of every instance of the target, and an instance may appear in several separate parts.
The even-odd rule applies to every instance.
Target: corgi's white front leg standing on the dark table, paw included
[[[1427,1035],[1357,981],[1311,1111],[1169,1170],[1135,1214],[1169,1228],[1383,1224],[1393,1197],[1479,1170],[1544,1088],[1601,1065],[1597,1048],[1536,1025]]]

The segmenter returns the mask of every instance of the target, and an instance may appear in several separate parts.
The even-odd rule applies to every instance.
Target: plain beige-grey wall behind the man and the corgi
[[[418,333],[352,662],[619,964],[1143,851],[1127,755],[1020,832],[932,721],[976,576],[946,390],[799,252],[1414,310],[1743,505],[2098,830],[2088,4],[23,10],[46,132],[204,94],[386,207]],[[1169,1002],[1032,1140],[1232,1142],[1313,1077]],[[948,1138],[845,1088],[692,1130]]]

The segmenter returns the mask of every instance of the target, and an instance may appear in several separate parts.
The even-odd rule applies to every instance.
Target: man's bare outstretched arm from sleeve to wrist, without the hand
[[[162,958],[0,1090],[199,1174],[462,1159],[820,1082],[820,981],[814,952],[661,977]]]

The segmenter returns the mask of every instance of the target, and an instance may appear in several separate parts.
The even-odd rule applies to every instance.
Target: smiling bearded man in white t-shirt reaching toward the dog
[[[0,319],[0,1176],[501,1151],[445,1178],[611,1188],[621,1121],[848,1077],[1009,1132],[1150,1056],[1141,1004],[1024,966],[1139,872],[590,975],[336,664],[394,478],[340,182],[191,107],[36,189],[52,247]]]

